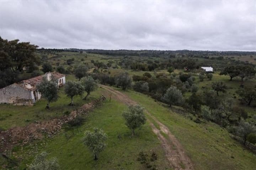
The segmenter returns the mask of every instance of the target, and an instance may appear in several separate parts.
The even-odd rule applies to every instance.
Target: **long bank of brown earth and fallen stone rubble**
[[[6,131],[0,131],[0,152],[12,148],[17,143],[24,145],[36,139],[42,139],[44,137],[43,134],[50,136],[56,134],[62,129],[63,124],[68,123],[79,115],[88,113],[105,99],[106,97],[102,95],[97,100],[86,103],[79,109],[72,111],[69,115],[47,121],[36,121],[25,127],[14,127]]]

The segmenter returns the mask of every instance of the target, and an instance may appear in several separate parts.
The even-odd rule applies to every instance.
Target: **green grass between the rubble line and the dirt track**
[[[141,129],[135,130],[135,136],[131,137],[131,131],[124,125],[122,117],[122,111],[126,107],[115,100],[106,101],[89,113],[84,124],[74,129],[75,135],[69,140],[64,132],[60,132],[53,138],[15,148],[16,152],[12,154],[12,158],[21,157],[18,169],[26,168],[26,164],[32,162],[34,155],[46,151],[49,157],[57,157],[63,170],[146,170],[145,166],[137,161],[138,154],[143,151],[150,155],[155,151],[158,154],[155,164],[161,170],[168,169],[164,151],[148,122]],[[103,129],[108,135],[107,147],[100,153],[97,161],[93,160],[92,153],[82,143],[84,132],[94,127]]]

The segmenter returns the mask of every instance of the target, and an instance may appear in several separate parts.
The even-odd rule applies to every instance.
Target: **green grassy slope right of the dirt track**
[[[196,124],[172,112],[164,104],[157,103],[138,92],[126,91],[124,93],[142,104],[170,129],[192,159],[195,169],[255,169],[256,155],[233,140],[226,129],[211,122]]]

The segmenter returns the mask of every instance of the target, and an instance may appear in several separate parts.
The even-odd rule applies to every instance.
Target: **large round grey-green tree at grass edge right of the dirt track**
[[[177,89],[176,86],[171,86],[169,89],[166,90],[162,100],[169,104],[171,107],[172,105],[180,105],[184,101],[184,97],[180,90]]]

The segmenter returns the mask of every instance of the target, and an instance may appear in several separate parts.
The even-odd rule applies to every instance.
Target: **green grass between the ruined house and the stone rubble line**
[[[74,80],[74,76],[67,75],[67,80]],[[88,103],[101,95],[101,88],[92,92],[89,98],[84,101],[82,97],[75,96],[75,106],[68,106],[70,98],[64,94],[64,87],[59,90],[59,98],[56,102],[50,103],[50,109],[45,109],[47,101],[41,99],[34,106],[13,106],[10,104],[0,104],[0,129],[9,129],[15,126],[25,126],[34,121],[46,120],[54,117],[62,116],[66,111],[73,111],[85,103]]]

